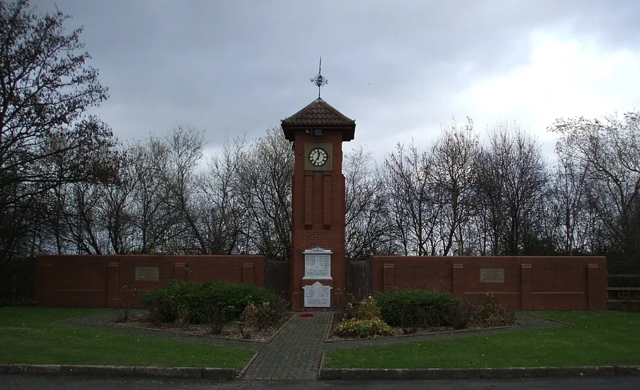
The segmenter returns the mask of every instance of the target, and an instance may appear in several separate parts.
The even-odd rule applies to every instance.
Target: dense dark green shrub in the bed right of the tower
[[[375,296],[382,318],[405,333],[419,328],[459,326],[463,300],[450,293],[427,290],[390,291]]]

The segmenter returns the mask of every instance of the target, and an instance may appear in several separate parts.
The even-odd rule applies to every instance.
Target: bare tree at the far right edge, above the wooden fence
[[[609,241],[607,251],[640,253],[640,113],[602,120],[559,119],[558,155],[585,172],[586,199]]]

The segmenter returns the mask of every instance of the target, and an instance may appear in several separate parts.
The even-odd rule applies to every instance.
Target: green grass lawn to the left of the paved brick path
[[[0,363],[242,368],[253,352],[54,324],[95,309],[0,308]]]

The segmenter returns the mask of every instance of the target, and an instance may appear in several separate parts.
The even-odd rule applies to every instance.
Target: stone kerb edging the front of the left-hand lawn
[[[0,364],[0,374],[164,379],[235,379],[236,369],[202,367],[78,366],[71,364]]]

